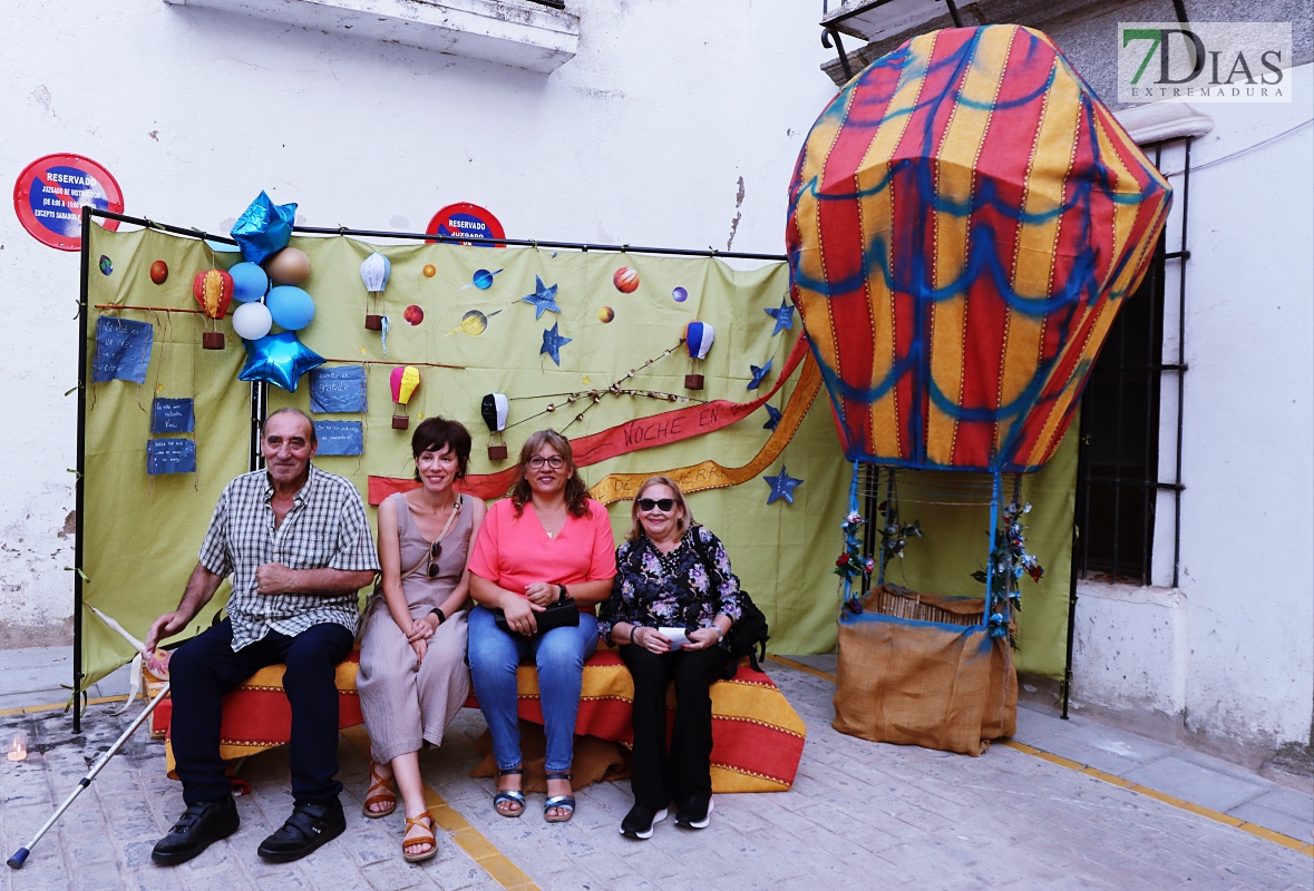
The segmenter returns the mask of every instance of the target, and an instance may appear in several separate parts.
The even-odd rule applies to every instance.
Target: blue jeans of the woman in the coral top
[[[498,770],[520,766],[515,669],[530,659],[539,668],[539,702],[548,737],[548,773],[568,773],[574,760],[574,723],[579,711],[583,660],[598,648],[598,619],[579,613],[578,627],[553,629],[526,638],[497,626],[491,610],[470,610],[470,680],[493,734]]]

